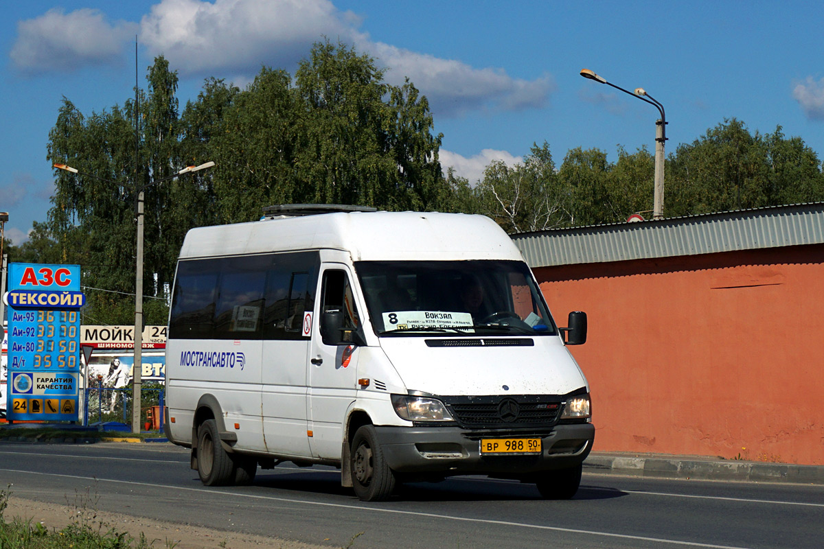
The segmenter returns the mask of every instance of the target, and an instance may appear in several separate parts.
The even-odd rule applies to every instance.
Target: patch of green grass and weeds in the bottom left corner
[[[11,485],[10,485],[11,486]],[[70,521],[65,528],[50,529],[42,523],[19,517],[7,519],[10,490],[0,491],[0,548],[2,549],[147,549],[166,547],[171,549],[176,542],[166,540],[162,546],[159,540],[149,542],[143,533],[134,538],[127,532],[120,532],[97,516],[97,496],[76,493],[69,503]]]

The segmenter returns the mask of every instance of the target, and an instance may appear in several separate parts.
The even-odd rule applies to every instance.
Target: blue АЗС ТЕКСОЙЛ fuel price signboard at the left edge
[[[8,266],[7,418],[77,421],[79,265]]]

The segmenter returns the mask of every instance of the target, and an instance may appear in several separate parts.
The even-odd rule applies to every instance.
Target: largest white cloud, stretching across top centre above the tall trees
[[[140,42],[164,54],[184,76],[246,74],[261,65],[293,70],[311,44],[324,37],[353,44],[360,53],[391,67],[386,79],[410,77],[433,112],[452,116],[475,109],[518,110],[544,106],[555,83],[549,75],[527,81],[499,68],[475,68],[373,42],[358,31],[352,12],[328,0],[162,0],[141,21]]]

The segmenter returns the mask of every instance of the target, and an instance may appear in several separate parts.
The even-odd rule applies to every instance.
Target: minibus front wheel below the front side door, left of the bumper
[[[373,426],[365,425],[355,432],[349,465],[352,486],[361,501],[383,501],[395,491],[395,472],[383,458]]]

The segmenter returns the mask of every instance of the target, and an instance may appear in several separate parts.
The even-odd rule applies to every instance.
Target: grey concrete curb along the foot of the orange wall
[[[824,484],[824,467],[728,459],[589,454],[583,470],[630,477]]]

